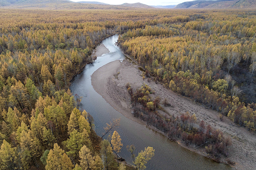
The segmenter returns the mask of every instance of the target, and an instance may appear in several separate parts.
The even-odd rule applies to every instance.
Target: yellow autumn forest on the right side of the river
[[[255,14],[195,16],[129,29],[119,44],[166,88],[254,131]]]

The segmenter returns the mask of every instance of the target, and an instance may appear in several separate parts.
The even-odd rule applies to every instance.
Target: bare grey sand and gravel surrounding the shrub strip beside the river
[[[223,131],[223,133],[226,134],[226,136],[233,137],[233,139],[232,139],[233,145],[231,146],[231,148],[229,150],[230,156],[228,159],[231,159],[232,161],[236,162],[236,165],[232,166],[232,165],[228,164],[227,159],[218,159],[217,160],[212,157],[209,157],[207,153],[202,151],[203,150],[202,148],[195,150],[193,146],[187,146],[180,140],[176,140],[175,142],[177,142],[178,144],[180,144],[180,146],[182,146],[192,152],[196,152],[206,158],[212,159],[212,161],[228,164],[232,167],[235,167],[236,169],[254,169],[255,162],[253,162],[253,159],[248,160],[249,158],[246,158],[247,156],[244,156],[244,155],[246,155],[246,152],[248,152],[248,150],[250,151],[250,148],[243,147],[244,142],[239,141],[240,137],[236,137],[237,131],[242,131],[242,133],[241,132],[239,132],[239,133],[243,135],[243,133],[246,131],[245,129],[241,129],[239,127],[230,127],[229,126],[230,120],[228,118],[224,118],[224,120],[222,122],[220,122],[218,120],[217,112],[207,109],[207,108],[204,108],[204,107],[201,107],[196,102],[193,102],[184,96],[179,96],[176,93],[173,93],[172,91],[166,89],[160,83],[156,84],[153,81],[150,81],[150,82],[146,82],[146,80],[143,81],[142,77],[140,76],[140,74],[141,74],[141,71],[139,70],[140,66],[134,65],[134,64],[135,64],[135,62],[131,63],[125,59],[125,60],[123,60],[123,62],[120,62],[119,60],[117,60],[117,61],[113,61],[111,63],[108,63],[108,64],[100,67],[98,70],[96,70],[92,74],[93,88],[118,112],[120,112],[127,118],[130,118],[131,120],[133,120],[137,123],[143,124],[143,125],[147,126],[148,128],[161,133],[164,136],[167,136],[167,135],[164,134],[162,131],[156,129],[155,127],[147,125],[146,122],[144,122],[144,121],[140,120],[139,118],[134,117],[132,115],[131,106],[129,106],[130,105],[130,96],[128,95],[128,92],[126,92],[126,89],[124,86],[127,82],[130,82],[133,89],[137,89],[138,87],[140,87],[143,84],[143,82],[145,82],[153,90],[155,90],[157,92],[161,92],[161,91],[162,91],[162,93],[163,93],[163,91],[167,92],[169,95],[172,96],[172,98],[174,100],[176,100],[175,104],[179,103],[180,101],[185,103],[185,105],[183,105],[183,106],[182,106],[182,104],[178,104],[178,106],[174,107],[174,109],[168,108],[169,109],[168,111],[171,110],[171,113],[173,113],[173,111],[174,111],[176,114],[183,113],[186,110],[188,110],[191,114],[196,113],[196,116],[199,115],[198,120],[200,120],[200,121],[204,120],[207,124],[210,124],[212,126],[212,128],[221,129]],[[117,77],[116,78],[114,75],[118,72],[120,72],[120,73],[116,76]],[[133,79],[133,80],[131,80],[131,79]],[[136,79],[136,80],[134,81],[134,79]],[[131,81],[133,81],[133,82],[131,82]],[[142,83],[138,83],[138,82],[142,82]],[[159,96],[162,97],[161,94]],[[179,98],[179,99],[176,99],[176,98]],[[189,105],[188,108],[190,108],[190,107],[192,108],[192,110],[193,110],[192,112],[190,111],[191,109],[187,109],[187,107],[184,107],[184,106],[186,106],[186,104]],[[179,108],[179,107],[181,107],[181,108]],[[164,109],[166,109],[166,108],[164,108]],[[197,113],[198,111],[201,111],[201,113],[198,114]],[[208,115],[204,114],[203,112],[207,113],[208,115],[210,115],[210,118],[214,118],[215,120],[211,120],[211,122],[208,123],[209,121],[205,120],[208,118]],[[199,121],[197,121],[197,123],[198,122]],[[220,123],[220,125],[216,125],[217,122]],[[231,131],[229,131],[230,129],[231,129]],[[250,134],[250,132],[248,132],[248,131],[246,131],[246,133],[247,133],[247,135]],[[252,141],[253,140],[254,139],[252,137]],[[239,149],[237,149],[237,148],[239,148],[241,150],[239,151]],[[244,151],[244,149],[247,149],[247,150]],[[256,155],[256,154],[254,153],[252,155]]]

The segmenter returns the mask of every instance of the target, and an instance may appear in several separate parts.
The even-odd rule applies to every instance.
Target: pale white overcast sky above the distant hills
[[[127,0],[127,1],[120,1],[120,0],[71,0],[74,2],[78,1],[97,1],[97,2],[103,2],[106,4],[112,4],[112,5],[120,5],[124,3],[137,3],[140,2],[142,4],[147,4],[147,5],[177,5],[182,2],[186,1],[192,1],[192,0]]]

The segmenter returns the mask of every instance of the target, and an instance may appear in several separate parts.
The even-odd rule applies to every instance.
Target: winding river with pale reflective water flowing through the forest
[[[125,55],[115,45],[118,35],[113,35],[102,43],[110,51],[103,54],[95,60],[95,63],[88,64],[84,70],[76,75],[70,85],[73,95],[83,96],[80,107],[89,112],[95,123],[95,131],[102,136],[103,127],[113,118],[121,118],[120,126],[116,130],[121,136],[123,148],[119,153],[127,163],[132,165],[131,154],[126,150],[127,145],[133,144],[136,147],[136,155],[145,147],[151,146],[155,149],[155,156],[148,161],[147,169],[163,169],[163,170],[220,170],[232,169],[230,166],[220,164],[205,158],[195,152],[181,147],[176,142],[170,141],[164,135],[149,129],[131,119],[125,117],[113,107],[111,107],[105,99],[102,98],[92,87],[91,75],[101,66],[115,61],[123,60]],[[106,135],[107,137],[107,135]]]

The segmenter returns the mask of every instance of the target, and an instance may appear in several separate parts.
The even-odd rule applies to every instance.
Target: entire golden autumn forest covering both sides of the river
[[[255,129],[254,11],[0,9],[0,18],[0,169],[132,168],[114,159],[118,132],[98,137],[68,89],[95,46],[115,33],[166,88]],[[155,151],[135,157],[134,146],[127,149],[136,169]]]

